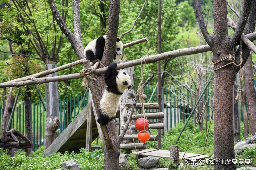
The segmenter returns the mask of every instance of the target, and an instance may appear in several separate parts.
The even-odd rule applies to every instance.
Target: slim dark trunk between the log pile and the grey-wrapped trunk
[[[31,102],[31,93],[29,92],[29,89],[27,88],[27,93],[26,93],[26,98],[25,98],[25,134],[26,137],[30,140],[33,141],[33,135],[32,135],[32,102]],[[27,156],[31,153],[32,148],[26,148],[26,154]]]

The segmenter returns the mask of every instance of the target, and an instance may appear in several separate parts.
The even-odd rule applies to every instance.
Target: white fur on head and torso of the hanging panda
[[[123,73],[126,73],[123,74]],[[123,85],[123,82],[127,81],[128,85]],[[124,90],[131,85],[131,79],[126,70],[119,70],[116,78],[116,84],[118,88],[118,92],[123,93]],[[121,95],[115,94],[112,92],[108,92],[107,89],[104,89],[102,98],[100,100],[100,108],[102,110],[102,114],[108,115],[110,118],[116,116],[116,112],[119,105]]]

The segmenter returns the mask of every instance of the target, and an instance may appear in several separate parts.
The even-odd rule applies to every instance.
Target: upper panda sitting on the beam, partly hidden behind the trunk
[[[92,63],[96,63],[99,59],[102,59],[104,47],[105,47],[105,39],[106,35],[100,36],[89,42],[84,49],[84,56],[90,60]],[[114,59],[116,59],[116,55],[121,55],[123,49],[123,43],[119,38],[116,39],[116,50]],[[92,65],[92,64],[91,64]]]

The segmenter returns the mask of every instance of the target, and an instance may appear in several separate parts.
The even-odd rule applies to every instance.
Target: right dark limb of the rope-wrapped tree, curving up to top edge
[[[230,38],[229,45],[235,46],[236,43],[240,40],[241,35],[244,31],[244,27],[247,22],[249,13],[251,11],[251,4],[252,4],[252,0],[244,0],[243,11],[239,19],[239,22],[237,24],[238,26]]]

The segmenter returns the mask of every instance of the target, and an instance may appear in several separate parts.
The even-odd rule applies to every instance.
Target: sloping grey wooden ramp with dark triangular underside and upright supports
[[[44,154],[51,155],[56,152],[64,153],[65,151],[79,152],[79,149],[82,147],[90,150],[92,141],[99,136],[97,129],[99,124],[96,124],[95,116],[97,119],[95,107],[92,101],[92,94],[89,90],[88,105],[52,142]],[[100,134],[100,137],[101,136],[102,135]]]

